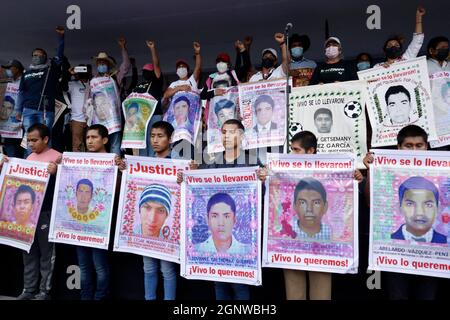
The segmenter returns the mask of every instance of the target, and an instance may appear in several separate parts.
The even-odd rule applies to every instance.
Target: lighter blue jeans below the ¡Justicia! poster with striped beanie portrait
[[[177,272],[175,263],[149,257],[143,258],[145,300],[156,300],[158,267],[160,264],[164,278],[164,300],[175,300],[177,291]]]

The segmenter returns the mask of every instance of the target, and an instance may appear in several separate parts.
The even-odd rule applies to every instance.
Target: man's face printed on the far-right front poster
[[[434,193],[427,189],[406,190],[400,211],[410,233],[416,236],[427,233],[432,228],[438,212]]]

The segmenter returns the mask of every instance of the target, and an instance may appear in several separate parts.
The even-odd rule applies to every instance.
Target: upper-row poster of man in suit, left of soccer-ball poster
[[[239,84],[239,106],[246,149],[286,141],[286,80]]]

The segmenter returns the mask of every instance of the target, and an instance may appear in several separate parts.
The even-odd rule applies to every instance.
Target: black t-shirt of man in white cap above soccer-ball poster
[[[340,60],[337,63],[321,62],[317,65],[310,84],[333,83],[358,79],[356,66],[352,61]]]

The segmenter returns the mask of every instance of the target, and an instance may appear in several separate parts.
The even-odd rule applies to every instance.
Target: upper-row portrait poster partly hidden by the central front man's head
[[[208,153],[222,152],[222,125],[229,119],[240,119],[238,87],[229,87],[226,93],[213,97],[209,103]]]

